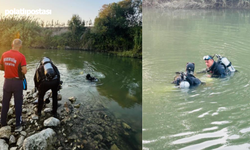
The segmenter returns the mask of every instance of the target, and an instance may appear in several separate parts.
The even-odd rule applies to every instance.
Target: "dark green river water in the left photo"
[[[1,48],[1,53],[8,50]],[[122,58],[103,53],[74,50],[20,50],[26,57],[28,90],[34,88],[33,77],[43,56],[51,58],[58,67],[63,81],[60,91],[63,99],[75,96],[77,103],[101,102],[117,119],[126,122],[134,132],[127,139],[131,147],[141,149],[142,140],[142,62],[140,59]],[[86,74],[99,79],[91,83]],[[3,72],[0,72],[0,88]],[[2,95],[2,90],[1,90]],[[118,147],[122,147],[117,145]]]

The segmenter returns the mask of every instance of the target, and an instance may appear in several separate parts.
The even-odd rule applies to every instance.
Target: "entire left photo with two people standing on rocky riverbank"
[[[0,14],[0,150],[142,149],[142,0]]]

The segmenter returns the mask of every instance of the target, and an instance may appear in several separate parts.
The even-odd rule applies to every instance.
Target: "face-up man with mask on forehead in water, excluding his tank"
[[[206,71],[211,73],[210,77],[225,78],[227,75],[227,68],[219,62],[215,62],[214,58],[210,55],[204,56],[203,60],[206,63]]]

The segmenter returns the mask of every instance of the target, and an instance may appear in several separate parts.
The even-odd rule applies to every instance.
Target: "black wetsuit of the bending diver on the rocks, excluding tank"
[[[52,113],[56,115],[57,112],[57,91],[59,90],[59,84],[60,84],[60,72],[57,69],[57,67],[53,64],[52,67],[55,71],[55,77],[52,79],[47,79],[47,77],[44,74],[44,67],[41,64],[39,68],[36,70],[35,76],[34,76],[34,83],[35,87],[38,89],[38,110],[37,114],[41,115],[41,111],[43,108],[43,99],[44,95],[48,90],[52,90],[52,99],[53,99],[53,109]]]

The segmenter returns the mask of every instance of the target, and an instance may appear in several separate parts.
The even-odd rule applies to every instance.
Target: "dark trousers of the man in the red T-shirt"
[[[23,81],[18,79],[5,79],[3,85],[3,101],[1,112],[2,126],[7,125],[7,115],[12,94],[14,94],[15,101],[16,126],[21,125],[23,105]]]

